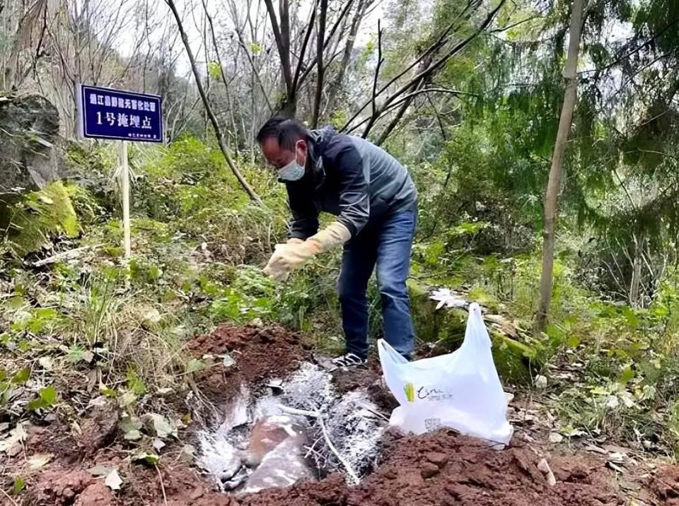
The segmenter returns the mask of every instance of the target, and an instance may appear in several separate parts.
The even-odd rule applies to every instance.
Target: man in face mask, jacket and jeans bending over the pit
[[[332,128],[309,131],[273,117],[257,134],[267,163],[288,191],[292,220],[265,273],[285,279],[308,259],[344,245],[337,291],[347,351],[337,367],[368,358],[368,280],[376,267],[384,338],[410,359],[414,332],[405,281],[417,221],[417,192],[407,170],[381,148]],[[318,231],[318,213],[337,220]]]

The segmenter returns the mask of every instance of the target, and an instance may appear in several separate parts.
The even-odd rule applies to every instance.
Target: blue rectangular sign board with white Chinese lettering
[[[163,142],[161,97],[81,84],[79,127],[83,137]]]

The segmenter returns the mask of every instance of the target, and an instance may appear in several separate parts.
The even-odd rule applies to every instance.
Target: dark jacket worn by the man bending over
[[[318,213],[337,216],[354,237],[368,220],[412,208],[417,191],[393,156],[356,136],[330,127],[310,132],[306,175],[286,182],[292,211],[290,237],[306,239],[318,231]]]

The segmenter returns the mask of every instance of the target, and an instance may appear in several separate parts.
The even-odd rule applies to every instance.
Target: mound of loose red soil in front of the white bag
[[[312,505],[622,505],[599,461],[555,459],[563,479],[550,487],[527,447],[501,452],[479,440],[439,432],[393,437],[385,461],[360,486],[341,476],[288,490],[265,490],[243,498],[243,506]],[[556,467],[557,465],[563,467]]]

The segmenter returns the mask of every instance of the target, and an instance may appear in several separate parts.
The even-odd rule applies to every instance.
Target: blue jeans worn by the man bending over
[[[368,298],[366,290],[377,266],[377,283],[382,299],[384,339],[412,358],[415,335],[410,318],[410,297],[405,281],[410,273],[410,249],[417,224],[417,206],[368,222],[344,245],[337,293],[342,306],[342,328],[347,353],[368,357]]]

